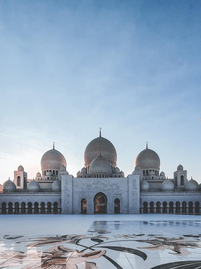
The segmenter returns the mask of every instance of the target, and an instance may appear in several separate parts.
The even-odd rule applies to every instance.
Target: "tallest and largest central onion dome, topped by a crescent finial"
[[[116,149],[108,139],[101,137],[101,131],[100,136],[89,142],[85,149],[85,165],[90,164],[99,155],[100,150],[101,155],[105,157],[106,160],[116,165]]]

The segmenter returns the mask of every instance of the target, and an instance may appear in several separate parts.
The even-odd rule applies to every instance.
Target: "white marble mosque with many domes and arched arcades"
[[[101,129],[101,128],[100,128]],[[201,184],[187,179],[179,164],[174,177],[160,172],[160,158],[148,145],[135,158],[132,174],[117,167],[113,144],[100,134],[84,152],[84,167],[69,175],[54,148],[41,158],[41,173],[28,179],[22,165],[14,180],[0,185],[0,214],[201,213]]]

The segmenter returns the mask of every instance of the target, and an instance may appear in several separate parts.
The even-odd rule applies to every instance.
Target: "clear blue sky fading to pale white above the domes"
[[[148,147],[201,183],[200,1],[0,1],[0,184],[52,148],[76,176],[87,144],[125,176]]]

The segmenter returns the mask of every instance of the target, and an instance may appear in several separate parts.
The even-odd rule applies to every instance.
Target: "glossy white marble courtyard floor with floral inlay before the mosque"
[[[0,268],[201,268],[200,216],[0,215]]]

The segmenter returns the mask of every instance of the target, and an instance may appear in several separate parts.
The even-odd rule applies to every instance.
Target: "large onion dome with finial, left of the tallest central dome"
[[[59,168],[64,165],[66,167],[66,160],[64,156],[59,152],[58,150],[50,149],[46,153],[44,153],[42,159],[41,159],[41,168]]]

